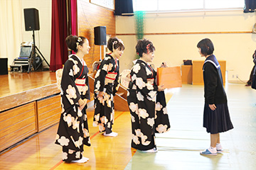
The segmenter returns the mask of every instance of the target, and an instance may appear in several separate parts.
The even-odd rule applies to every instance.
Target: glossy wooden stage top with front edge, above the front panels
[[[9,72],[0,82],[0,112],[60,92],[55,72]]]

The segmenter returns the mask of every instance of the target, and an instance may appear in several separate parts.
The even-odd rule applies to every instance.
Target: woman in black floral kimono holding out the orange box
[[[132,147],[143,152],[157,152],[155,132],[170,130],[164,85],[156,85],[156,71],[148,64],[154,58],[154,50],[149,40],[137,42],[136,52],[140,59],[131,70],[132,81],[127,93],[132,118]]]

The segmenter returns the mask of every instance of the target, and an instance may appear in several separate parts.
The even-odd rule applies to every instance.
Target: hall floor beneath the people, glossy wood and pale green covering
[[[256,91],[244,84],[226,84],[225,90],[235,128],[220,134],[224,152],[215,157],[199,154],[210,145],[202,128],[203,86],[183,84],[166,91],[171,130],[156,135],[157,153],[145,154],[130,147],[129,112],[116,111],[113,130],[119,135],[104,137],[92,127],[91,107],[87,115],[92,146],[84,147],[88,162],[61,161],[61,147],[54,144],[58,125],[53,125],[2,153],[0,169],[255,169]]]

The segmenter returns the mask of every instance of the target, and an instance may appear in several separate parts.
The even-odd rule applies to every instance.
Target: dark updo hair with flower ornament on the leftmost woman
[[[65,42],[70,50],[78,52],[78,45],[82,45],[85,42],[85,40],[87,39],[82,36],[78,37],[76,35],[68,35],[68,37],[65,39]]]

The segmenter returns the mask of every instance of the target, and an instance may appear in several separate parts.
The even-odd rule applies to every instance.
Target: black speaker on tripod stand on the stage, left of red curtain
[[[43,64],[43,61],[45,61],[46,64],[48,64],[48,62],[46,61],[45,57],[43,57],[38,47],[36,47],[35,30],[40,30],[38,10],[36,8],[24,8],[24,20],[25,20],[25,30],[33,31],[32,59],[29,60],[29,65],[28,65],[28,73],[29,73],[31,71],[31,63],[33,62],[32,60],[36,60],[36,54],[38,55],[38,52],[40,54],[38,56],[41,56],[43,60],[41,60],[41,63],[37,64],[37,67],[35,67],[34,70],[36,71],[38,67],[40,67],[41,64]],[[48,64],[48,67],[50,67],[50,64]]]

